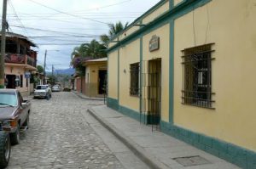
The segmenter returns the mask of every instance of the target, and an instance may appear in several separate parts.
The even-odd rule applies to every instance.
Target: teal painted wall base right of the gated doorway
[[[160,121],[160,128],[162,132],[218,156],[225,161],[229,161],[236,166],[247,169],[256,168],[256,152],[254,151],[221,141],[218,138],[208,137],[198,132],[177,127],[166,121]]]

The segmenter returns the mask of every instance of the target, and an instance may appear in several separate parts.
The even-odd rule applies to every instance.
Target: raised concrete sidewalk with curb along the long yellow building
[[[239,168],[163,132],[152,132],[151,126],[140,124],[106,105],[88,111],[151,168]]]

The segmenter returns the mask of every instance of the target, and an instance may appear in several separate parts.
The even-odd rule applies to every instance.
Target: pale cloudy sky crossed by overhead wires
[[[108,23],[131,23],[160,0],[8,0],[9,31],[38,45],[38,65],[70,67],[73,48],[108,34]],[[1,1],[1,8],[3,0]],[[2,18],[2,12],[1,12]]]

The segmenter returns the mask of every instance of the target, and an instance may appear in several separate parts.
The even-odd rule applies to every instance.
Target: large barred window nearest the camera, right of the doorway
[[[212,108],[212,45],[183,50],[183,104]]]

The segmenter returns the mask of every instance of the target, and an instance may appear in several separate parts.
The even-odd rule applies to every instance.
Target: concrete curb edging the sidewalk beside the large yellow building
[[[97,121],[99,121],[103,127],[106,127],[108,131],[112,132],[113,135],[116,138],[119,138],[119,140],[127,146],[128,149],[131,149],[134,155],[137,155],[141,161],[143,161],[149,168],[152,169],[167,169],[170,168],[163,163],[161,163],[159,160],[157,160],[154,156],[148,155],[148,153],[137,143],[132,141],[130,138],[126,137],[125,134],[122,132],[119,132],[119,130],[116,127],[113,127],[112,124],[110,124],[108,121],[105,121],[101,116],[96,115],[94,113],[94,110],[87,110],[90,115],[92,115],[94,118],[96,118]]]

